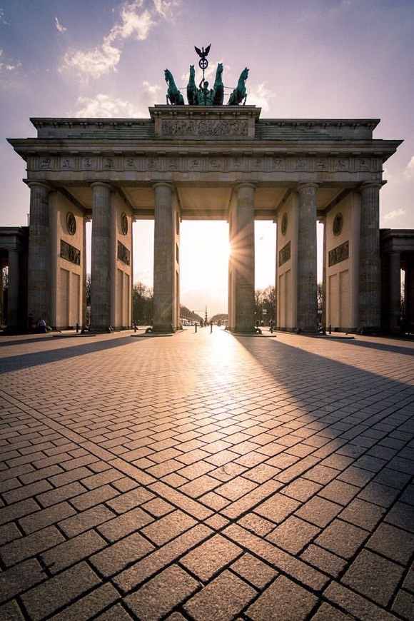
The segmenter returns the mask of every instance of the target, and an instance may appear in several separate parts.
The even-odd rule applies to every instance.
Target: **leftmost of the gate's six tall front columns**
[[[50,321],[49,186],[32,181],[30,188],[27,308],[34,320]]]

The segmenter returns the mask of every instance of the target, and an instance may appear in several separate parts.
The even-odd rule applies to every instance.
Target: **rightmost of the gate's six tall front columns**
[[[360,188],[359,325],[380,328],[380,183]]]

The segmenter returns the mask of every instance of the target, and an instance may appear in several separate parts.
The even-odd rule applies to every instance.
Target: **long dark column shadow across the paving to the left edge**
[[[46,335],[45,338],[49,341],[49,343],[51,342],[51,340],[60,340],[53,337],[48,338]],[[38,340],[44,339],[36,338],[34,340],[25,341],[25,343],[36,343]],[[15,343],[21,344],[22,341],[15,341]],[[126,336],[98,341],[96,341],[94,338],[88,338],[85,339],[84,344],[72,345],[69,347],[48,351],[24,353],[21,355],[9,356],[8,358],[0,358],[0,375],[3,373],[10,373],[11,371],[57,362],[64,358],[76,358],[77,356],[86,355],[89,353],[110,350],[116,347],[120,347],[121,345],[133,345],[138,343],[143,343],[143,340],[139,338],[128,338]]]

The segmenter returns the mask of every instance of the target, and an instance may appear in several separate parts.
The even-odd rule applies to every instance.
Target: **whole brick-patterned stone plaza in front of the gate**
[[[414,341],[0,336],[0,619],[414,618]]]

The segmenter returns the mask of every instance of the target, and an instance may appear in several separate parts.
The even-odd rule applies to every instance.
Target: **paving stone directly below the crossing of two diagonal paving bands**
[[[181,558],[180,563],[193,575],[206,582],[242,553],[243,550],[238,545],[221,535],[214,535],[196,550],[188,552]]]

